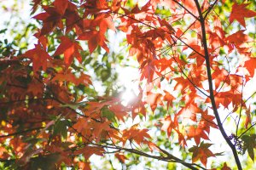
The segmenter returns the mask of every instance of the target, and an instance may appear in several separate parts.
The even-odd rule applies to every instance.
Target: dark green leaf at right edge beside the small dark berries
[[[256,134],[243,135],[241,140],[244,142],[242,153],[244,154],[247,150],[248,155],[254,161],[254,151],[253,148],[256,148]]]

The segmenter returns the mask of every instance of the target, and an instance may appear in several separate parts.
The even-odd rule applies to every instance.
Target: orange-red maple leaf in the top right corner
[[[256,16],[256,12],[246,8],[248,4],[249,3],[233,4],[230,14],[230,23],[232,23],[234,20],[237,20],[241,26],[246,27],[244,18]]]

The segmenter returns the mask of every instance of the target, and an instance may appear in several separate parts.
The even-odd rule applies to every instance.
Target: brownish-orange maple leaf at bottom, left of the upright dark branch
[[[189,152],[193,152],[192,162],[194,163],[200,159],[201,163],[207,167],[207,158],[211,156],[215,157],[212,151],[208,149],[211,145],[212,144],[204,144],[204,142],[201,142],[200,146],[190,148]]]

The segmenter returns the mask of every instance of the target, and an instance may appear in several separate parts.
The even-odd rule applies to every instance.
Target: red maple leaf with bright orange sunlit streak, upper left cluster
[[[79,53],[79,50],[83,50],[78,42],[71,41],[68,37],[60,37],[61,44],[56,49],[55,55],[60,55],[64,53],[64,61],[67,66],[71,65],[73,58],[76,58],[79,60],[79,62],[82,62],[82,56]]]

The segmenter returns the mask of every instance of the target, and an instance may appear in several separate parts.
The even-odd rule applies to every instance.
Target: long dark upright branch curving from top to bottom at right
[[[233,156],[236,160],[236,166],[239,170],[241,170],[242,169],[241,162],[240,162],[239,157],[236,152],[236,146],[234,144],[232,144],[227,133],[224,131],[224,127],[223,127],[220,117],[218,115],[218,109],[217,109],[217,105],[215,103],[215,98],[214,98],[214,94],[213,94],[212,73],[211,73],[211,64],[210,64],[210,58],[209,58],[209,53],[208,53],[208,47],[207,47],[207,32],[206,32],[206,28],[205,28],[205,20],[201,13],[201,7],[200,7],[198,0],[195,0],[195,4],[196,4],[196,8],[200,15],[202,42],[203,42],[203,47],[204,47],[204,51],[205,51],[205,55],[206,55],[205,57],[206,57],[206,64],[207,64],[207,77],[208,77],[208,83],[209,83],[210,99],[211,99],[211,103],[212,103],[212,111],[213,111],[216,121],[218,123],[218,128],[220,130],[220,133],[224,137],[227,144],[229,144],[230,149],[233,152]]]

